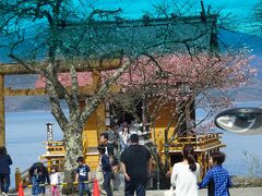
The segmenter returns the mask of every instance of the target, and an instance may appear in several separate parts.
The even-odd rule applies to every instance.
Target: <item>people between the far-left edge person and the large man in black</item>
[[[112,195],[110,181],[112,173],[119,170],[120,163],[118,160],[118,149],[120,151],[127,148],[130,134],[128,126],[123,126],[122,132],[117,132],[117,125],[112,124],[110,128],[100,135],[100,145],[97,147],[100,155],[99,168],[103,171],[104,189],[107,195]],[[91,181],[91,169],[85,163],[84,157],[76,159],[79,167],[75,169],[75,182],[79,184],[79,195],[83,196],[85,193],[91,196],[88,183]],[[48,175],[46,167],[40,163],[34,163],[29,169],[29,176],[32,180],[32,195],[45,195],[45,183],[51,184],[52,196],[59,196],[60,175],[56,167],[51,168],[51,173]]]

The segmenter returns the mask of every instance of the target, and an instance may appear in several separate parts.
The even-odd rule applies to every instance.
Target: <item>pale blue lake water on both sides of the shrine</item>
[[[55,139],[62,139],[62,132],[50,112],[8,112],[5,113],[7,148],[13,159],[12,186],[14,186],[14,171],[29,168],[38,161],[45,152],[47,140],[46,123],[53,123]],[[223,143],[227,145],[223,151],[227,159],[225,167],[231,175],[247,174],[243,151],[247,150],[262,157],[262,136],[239,136],[230,133],[223,134]]]

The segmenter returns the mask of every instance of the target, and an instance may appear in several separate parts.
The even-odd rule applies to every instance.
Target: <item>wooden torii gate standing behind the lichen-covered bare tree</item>
[[[86,68],[85,64],[79,64],[79,68],[76,69],[76,71],[92,72],[92,79],[93,79],[93,83],[91,85],[80,87],[79,93],[81,95],[94,95],[96,88],[99,87],[100,71],[116,70],[116,69],[119,69],[120,65],[121,65],[121,61],[118,59],[93,61],[92,68]],[[5,146],[4,97],[5,96],[45,96],[47,95],[46,88],[13,89],[11,87],[4,86],[4,77],[7,75],[24,75],[24,74],[36,74],[36,73],[25,69],[23,65],[17,63],[0,63],[0,146]]]

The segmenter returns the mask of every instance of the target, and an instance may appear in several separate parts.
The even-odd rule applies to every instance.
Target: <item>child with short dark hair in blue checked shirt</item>
[[[211,154],[210,164],[212,169],[207,171],[199,185],[199,188],[203,188],[213,184],[212,187],[209,187],[209,196],[229,196],[228,187],[233,184],[227,170],[222,167],[225,157],[225,154],[221,151]]]

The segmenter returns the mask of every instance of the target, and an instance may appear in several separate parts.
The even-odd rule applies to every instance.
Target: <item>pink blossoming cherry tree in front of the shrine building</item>
[[[146,106],[143,106],[143,109],[147,107],[143,110],[146,118],[142,121],[151,126],[154,120],[163,114],[162,108],[170,110],[163,144],[166,148],[165,169],[169,169],[169,145],[179,134],[188,131],[187,127],[181,130],[188,115],[200,107],[207,110],[207,115],[199,125],[217,108],[230,105],[225,90],[249,83],[250,76],[257,72],[249,64],[251,59],[247,51],[143,56],[118,78],[117,83],[122,91],[108,100],[134,115],[138,112],[134,106],[140,101],[146,102]],[[114,71],[104,76],[107,77],[111,72]],[[175,128],[170,128],[174,123]]]

